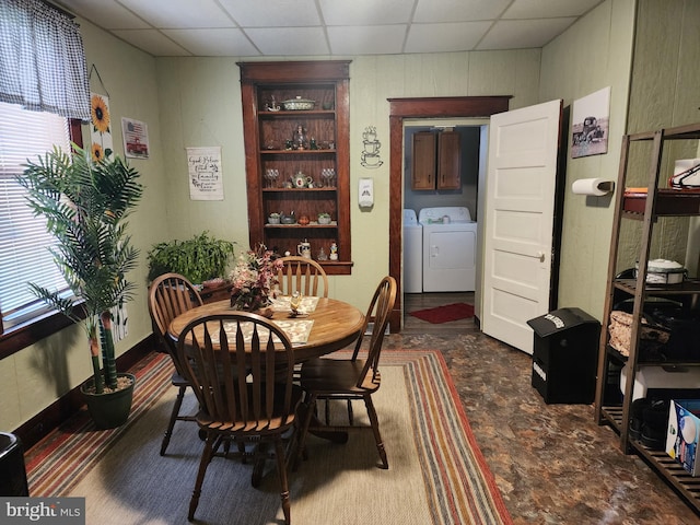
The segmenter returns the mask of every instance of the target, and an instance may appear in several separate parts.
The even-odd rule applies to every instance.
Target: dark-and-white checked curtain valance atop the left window
[[[0,1],[0,102],[90,120],[78,24],[42,0]]]

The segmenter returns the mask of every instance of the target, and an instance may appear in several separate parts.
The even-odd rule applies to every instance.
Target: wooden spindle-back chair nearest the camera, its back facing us
[[[247,312],[203,315],[183,330],[177,355],[199,400],[197,423],[206,432],[188,518],[195,517],[207,467],[220,445],[275,444],[284,522],[290,523],[288,459],[282,434],[295,424],[303,392],[293,382],[294,351],[284,331]],[[243,363],[243,365],[242,365]],[[296,432],[290,450],[295,451]],[[254,472],[255,476],[255,472]]]

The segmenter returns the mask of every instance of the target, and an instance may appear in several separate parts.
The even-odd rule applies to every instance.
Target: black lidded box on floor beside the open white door
[[[593,402],[600,323],[580,308],[561,308],[527,324],[535,331],[533,386],[545,402]]]

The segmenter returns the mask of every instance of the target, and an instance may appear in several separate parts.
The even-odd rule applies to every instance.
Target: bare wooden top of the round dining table
[[[200,315],[231,312],[229,300],[205,304],[188,310],[173,319],[168,335],[177,340],[187,324]],[[288,319],[289,313],[275,312],[272,320]],[[316,308],[301,319],[313,319],[314,324],[306,342],[294,345],[296,362],[306,361],[326,353],[335,352],[352,343],[364,326],[364,314],[358,308],[337,299],[319,298]]]

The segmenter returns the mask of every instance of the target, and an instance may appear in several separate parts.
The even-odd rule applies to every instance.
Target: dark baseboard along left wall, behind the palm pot
[[[156,348],[158,339],[154,335],[150,335],[117,358],[117,370],[131,369]],[[14,431],[14,434],[22,440],[22,445],[26,451],[46,438],[49,432],[58,428],[83,406],[80,386],[77,386],[22,424]]]

